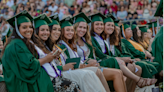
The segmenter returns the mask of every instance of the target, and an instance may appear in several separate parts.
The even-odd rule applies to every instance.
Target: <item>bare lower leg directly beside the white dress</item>
[[[105,80],[105,77],[104,77],[104,75],[103,75],[103,73],[101,72],[100,69],[97,69],[96,75],[99,77],[99,79],[100,79],[101,83],[103,84],[106,92],[110,92],[110,89],[109,89],[109,86],[107,84],[107,81]]]

